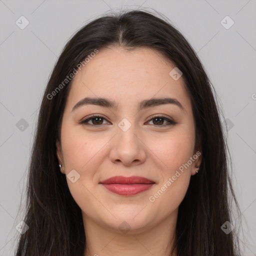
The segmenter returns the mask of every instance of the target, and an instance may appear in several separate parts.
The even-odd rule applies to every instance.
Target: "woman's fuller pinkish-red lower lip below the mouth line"
[[[154,183],[150,184],[102,184],[109,191],[120,195],[134,195],[148,190]]]

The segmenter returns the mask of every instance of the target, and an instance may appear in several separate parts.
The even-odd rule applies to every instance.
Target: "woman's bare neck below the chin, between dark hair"
[[[175,236],[177,210],[151,228],[131,228],[126,233],[100,225],[84,212],[82,216],[86,239],[84,256],[176,256],[176,252],[170,253]]]

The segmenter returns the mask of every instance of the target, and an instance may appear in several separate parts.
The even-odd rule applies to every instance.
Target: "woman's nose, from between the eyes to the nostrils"
[[[111,141],[109,157],[112,162],[125,166],[138,165],[146,159],[146,146],[136,132],[134,125],[126,131],[117,127],[117,134]]]

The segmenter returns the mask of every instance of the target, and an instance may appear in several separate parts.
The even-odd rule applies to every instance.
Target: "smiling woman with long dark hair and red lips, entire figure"
[[[237,255],[212,91],[187,40],[154,14],[78,30],[41,102],[15,255]]]

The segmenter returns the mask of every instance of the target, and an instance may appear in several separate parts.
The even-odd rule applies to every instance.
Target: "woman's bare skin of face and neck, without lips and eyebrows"
[[[100,50],[73,78],[61,124],[61,143],[56,141],[61,172],[72,169],[80,177],[69,190],[82,211],[88,255],[169,255],[175,234],[178,206],[201,156],[184,168],[180,176],[154,202],[154,195],[196,151],[195,123],[182,76],[174,80],[172,62],[149,48],[127,51],[121,47]],[[98,105],[72,107],[84,97],[105,97],[116,108]],[[172,97],[183,106],[162,104],[137,110],[141,100]],[[91,114],[103,116],[100,125],[79,124]],[[177,122],[152,119],[164,116]],[[118,123],[126,118],[131,127]],[[96,124],[95,124],[96,123]],[[94,126],[92,126],[94,125]],[[132,196],[108,191],[100,181],[115,175],[143,176],[155,184]],[[129,230],[118,228],[126,221]],[[125,225],[125,224],[123,224]],[[170,243],[170,246],[168,244]],[[173,254],[176,255],[176,254]]]

